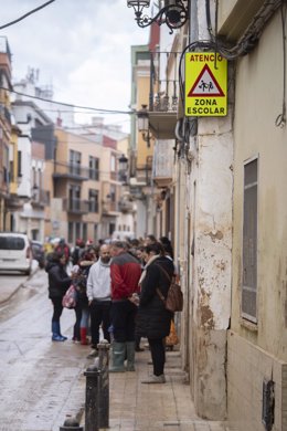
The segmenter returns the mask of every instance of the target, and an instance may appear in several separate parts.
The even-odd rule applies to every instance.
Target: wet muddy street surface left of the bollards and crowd
[[[0,286],[7,278],[0,275]],[[40,270],[30,280],[19,276],[23,280],[0,305],[0,431],[59,431],[66,416],[84,406],[89,349],[71,341],[74,312],[68,309],[61,324],[70,339],[51,341],[46,274]]]

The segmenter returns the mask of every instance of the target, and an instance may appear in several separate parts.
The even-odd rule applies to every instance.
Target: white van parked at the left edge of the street
[[[20,271],[30,275],[32,259],[31,243],[25,233],[0,232],[1,271]]]

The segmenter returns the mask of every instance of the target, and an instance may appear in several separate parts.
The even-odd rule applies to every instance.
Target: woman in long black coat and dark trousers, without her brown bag
[[[164,338],[170,333],[172,313],[166,309],[158,290],[167,297],[174,265],[172,260],[164,255],[159,242],[146,246],[146,266],[141,274],[139,308],[137,314],[137,334],[148,338],[153,375],[142,383],[164,383],[166,346]]]

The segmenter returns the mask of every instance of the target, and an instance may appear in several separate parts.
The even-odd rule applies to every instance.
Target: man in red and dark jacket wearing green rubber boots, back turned
[[[113,366],[110,371],[135,371],[135,318],[137,306],[132,295],[139,293],[141,267],[127,251],[125,242],[115,241],[110,248]],[[127,368],[125,359],[127,358]]]

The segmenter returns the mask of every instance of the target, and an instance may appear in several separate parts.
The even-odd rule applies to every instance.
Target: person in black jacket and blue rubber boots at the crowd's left
[[[71,277],[65,271],[66,257],[64,253],[52,253],[47,257],[45,271],[49,277],[49,297],[53,304],[52,340],[65,341],[67,338],[61,334],[60,317],[63,312],[62,299],[71,285]]]

